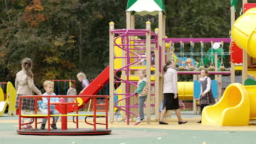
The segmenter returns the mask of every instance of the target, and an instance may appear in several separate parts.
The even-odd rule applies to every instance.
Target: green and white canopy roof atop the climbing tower
[[[165,13],[165,4],[162,0],[129,0],[126,11],[138,15],[158,15],[159,11]]]

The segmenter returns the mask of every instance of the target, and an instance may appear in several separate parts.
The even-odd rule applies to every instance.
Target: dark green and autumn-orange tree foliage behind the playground
[[[126,1],[5,1],[8,7],[0,1],[1,82],[14,82],[24,57],[33,60],[34,80],[40,87],[47,79],[77,80],[79,71],[95,79],[109,63],[109,22],[115,22],[115,29],[126,27]],[[166,0],[165,8],[168,37],[229,37],[229,1]],[[146,21],[152,21],[153,31],[158,27],[158,17],[149,15],[136,16],[135,27],[145,28]],[[81,63],[79,46],[83,49]]]

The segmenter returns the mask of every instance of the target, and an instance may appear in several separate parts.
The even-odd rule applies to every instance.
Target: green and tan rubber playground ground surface
[[[199,115],[183,113],[182,117],[188,121],[187,124],[179,125],[177,118],[167,119],[168,125],[159,125],[158,122],[113,122],[109,123],[112,133],[109,135],[84,135],[84,136],[39,136],[19,135],[18,116],[3,115],[0,117],[0,144],[5,143],[255,143],[256,144],[256,122],[241,127],[217,127],[204,126],[196,123]],[[79,120],[79,128],[92,128],[86,125],[83,119]],[[97,119],[102,121],[103,119]],[[60,128],[61,123],[57,123]],[[75,125],[68,120],[68,128]],[[103,128],[99,126],[97,128]]]

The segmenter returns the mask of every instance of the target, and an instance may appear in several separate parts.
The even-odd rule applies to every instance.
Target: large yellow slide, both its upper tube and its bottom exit
[[[246,11],[232,27],[232,38],[249,56],[256,58],[256,8]],[[253,71],[255,75],[256,71]],[[256,119],[256,85],[229,85],[219,102],[202,111],[203,125],[248,125]]]

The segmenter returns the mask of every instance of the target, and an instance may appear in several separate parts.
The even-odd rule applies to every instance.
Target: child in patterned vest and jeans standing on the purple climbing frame
[[[138,107],[139,107],[139,117],[137,118],[136,122],[141,122],[144,120],[144,103],[147,100],[148,96],[148,80],[146,78],[146,71],[139,70],[138,77],[140,78],[138,81],[138,88],[136,89],[135,93],[138,95]]]

